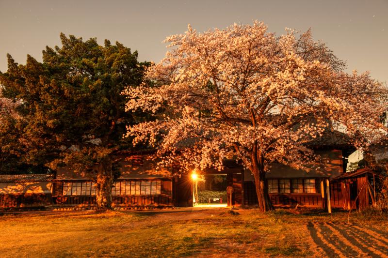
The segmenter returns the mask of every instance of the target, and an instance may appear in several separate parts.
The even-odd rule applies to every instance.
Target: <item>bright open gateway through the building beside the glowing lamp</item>
[[[226,207],[226,174],[198,175],[193,182],[194,207]]]

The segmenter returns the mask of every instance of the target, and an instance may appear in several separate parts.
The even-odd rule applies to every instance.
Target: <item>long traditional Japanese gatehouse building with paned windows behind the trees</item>
[[[326,132],[322,138],[314,139],[308,146],[323,157],[324,164],[309,172],[296,170],[282,164],[272,164],[267,172],[269,195],[278,207],[343,208],[341,188],[333,188],[330,179],[338,178],[346,171],[346,157],[354,152],[346,135],[340,132]],[[118,157],[120,176],[115,179],[112,189],[113,206],[116,207],[189,207],[193,206],[193,179],[191,172],[177,175],[173,167],[157,169],[157,162],[142,152],[123,152]],[[227,198],[234,206],[255,206],[257,196],[253,175],[234,160],[226,160],[223,171],[207,169],[196,171],[199,175],[226,175],[227,185],[233,187],[233,194]],[[41,175],[39,175],[41,176]],[[38,177],[39,177],[38,176]],[[33,205],[27,196],[45,198],[39,205],[53,207],[92,207],[96,201],[95,175],[75,173],[69,169],[59,169],[55,176],[45,175],[45,181],[15,179],[0,184],[1,207],[12,205],[22,207]],[[4,176],[3,176],[4,177]],[[1,179],[0,179],[1,180]],[[39,179],[43,180],[43,178]],[[3,180],[4,181],[4,180]],[[1,181],[1,182],[3,182]],[[4,181],[5,183],[5,181]],[[25,192],[26,185],[41,185],[41,190]],[[11,186],[12,185],[12,186]],[[10,187],[14,192],[7,192]],[[330,190],[329,190],[330,189]],[[16,191],[19,191],[16,193]],[[24,192],[23,192],[24,191]],[[5,197],[6,195],[8,197]],[[18,198],[18,201],[10,201]]]

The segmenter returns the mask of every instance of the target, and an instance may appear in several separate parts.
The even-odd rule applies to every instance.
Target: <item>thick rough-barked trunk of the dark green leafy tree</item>
[[[98,166],[96,185],[97,211],[112,209],[112,166],[108,161],[101,162]]]

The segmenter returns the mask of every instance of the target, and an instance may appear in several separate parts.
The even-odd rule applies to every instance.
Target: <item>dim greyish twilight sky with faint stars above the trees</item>
[[[160,61],[162,40],[183,33],[187,24],[197,31],[225,28],[257,19],[277,35],[284,28],[322,39],[348,65],[348,71],[371,71],[388,83],[388,0],[271,1],[98,1],[0,0],[0,71],[6,53],[25,63],[27,54],[42,60],[46,45],[60,45],[59,34],[83,39],[116,40],[139,51],[139,61]]]

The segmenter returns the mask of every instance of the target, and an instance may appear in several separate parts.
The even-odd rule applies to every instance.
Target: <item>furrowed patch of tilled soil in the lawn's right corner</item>
[[[323,256],[388,258],[386,229],[334,222],[309,223],[307,229]]]

